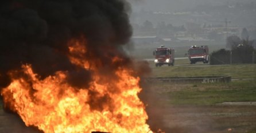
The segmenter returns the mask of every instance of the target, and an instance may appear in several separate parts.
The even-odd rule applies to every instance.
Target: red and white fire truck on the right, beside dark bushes
[[[188,58],[190,64],[203,61],[203,63],[209,62],[209,49],[208,46],[191,46],[188,50]]]

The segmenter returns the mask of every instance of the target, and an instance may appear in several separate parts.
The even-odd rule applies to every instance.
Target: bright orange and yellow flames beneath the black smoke
[[[66,71],[40,79],[32,65],[23,64],[21,71],[9,72],[11,84],[1,92],[5,107],[17,112],[26,126],[44,132],[152,132],[133,69],[118,67],[111,75],[102,74],[97,60],[84,57],[83,38],[68,45],[72,64],[91,72],[88,87],[68,84]],[[123,59],[111,60],[115,64]]]

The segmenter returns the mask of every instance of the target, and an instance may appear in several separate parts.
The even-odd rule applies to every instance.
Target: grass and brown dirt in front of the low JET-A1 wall
[[[216,105],[223,101],[256,101],[255,80],[150,85],[152,93],[158,95],[153,108],[161,114],[161,128],[166,132],[256,132],[255,105]]]

